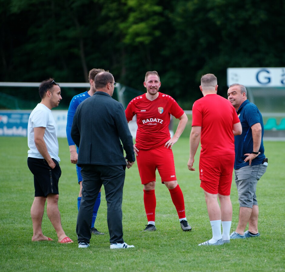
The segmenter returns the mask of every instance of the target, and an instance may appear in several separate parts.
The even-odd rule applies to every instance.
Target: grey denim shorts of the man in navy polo
[[[263,176],[266,169],[267,165],[264,164],[249,165],[235,169],[235,182],[240,207],[252,208],[253,205],[258,205],[255,194],[257,181]]]

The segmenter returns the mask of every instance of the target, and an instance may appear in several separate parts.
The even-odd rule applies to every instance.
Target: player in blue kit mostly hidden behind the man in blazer
[[[68,141],[69,150],[70,150],[70,161],[73,164],[77,163],[77,158],[78,158],[78,147],[75,146],[75,143],[73,142],[73,140],[72,140],[72,138],[70,136],[73,116],[75,114],[75,111],[76,111],[78,105],[82,101],[84,101],[86,98],[91,97],[96,92],[95,85],[94,85],[95,76],[99,72],[104,72],[104,71],[105,71],[104,69],[92,69],[92,70],[90,70],[89,71],[90,90],[86,91],[86,92],[82,92],[82,93],[74,96],[72,98],[71,102],[70,102],[69,109],[68,109],[68,112],[67,112],[66,136],[67,136],[67,141]],[[80,201],[81,201],[81,197],[82,197],[81,167],[76,165],[76,172],[77,172],[78,183],[80,185],[79,196],[77,198],[77,208],[79,210]],[[95,205],[94,205],[94,208],[93,208],[92,223],[91,223],[91,229],[90,229],[91,233],[96,234],[96,235],[104,234],[102,232],[99,232],[94,227],[100,203],[101,203],[101,190],[100,190],[100,192],[98,194],[98,197],[96,199],[96,202],[95,202]]]

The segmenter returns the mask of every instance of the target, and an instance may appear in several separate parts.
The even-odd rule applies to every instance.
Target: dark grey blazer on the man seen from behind
[[[127,160],[136,160],[122,103],[106,92],[95,92],[79,104],[73,118],[71,137],[79,146],[78,166],[126,165],[123,148]]]

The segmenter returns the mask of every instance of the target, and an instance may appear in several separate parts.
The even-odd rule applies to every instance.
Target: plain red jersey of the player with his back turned
[[[192,108],[192,126],[201,126],[200,157],[234,154],[233,125],[240,119],[229,100],[217,94],[198,99]]]

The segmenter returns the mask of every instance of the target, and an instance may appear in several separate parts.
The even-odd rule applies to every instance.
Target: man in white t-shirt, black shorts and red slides
[[[47,215],[57,233],[59,243],[73,243],[62,229],[59,200],[59,144],[52,108],[62,99],[59,85],[53,79],[41,82],[42,101],[35,107],[28,123],[28,167],[34,175],[35,199],[31,208],[32,241],[53,240],[42,233],[42,217],[47,200]]]

